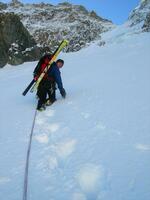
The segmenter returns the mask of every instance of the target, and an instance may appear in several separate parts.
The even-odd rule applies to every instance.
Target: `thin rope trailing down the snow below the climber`
[[[28,171],[29,171],[29,161],[30,161],[29,159],[30,159],[30,151],[31,151],[32,136],[33,136],[33,130],[35,126],[36,114],[37,114],[37,109],[34,114],[34,119],[32,123],[30,139],[29,139],[29,144],[28,144],[28,150],[27,150],[25,174],[24,174],[23,200],[27,200],[27,197],[28,197],[27,195],[28,195]]]

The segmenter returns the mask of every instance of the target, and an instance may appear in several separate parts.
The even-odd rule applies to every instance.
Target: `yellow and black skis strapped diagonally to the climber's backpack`
[[[48,69],[50,68],[51,64],[56,60],[57,56],[59,55],[59,53],[62,51],[62,49],[64,47],[66,47],[69,44],[68,40],[63,40],[61,42],[61,44],[59,45],[59,47],[56,49],[56,51],[54,52],[54,54],[52,55],[52,58],[49,62],[49,64],[45,67],[45,69],[43,70],[43,72],[40,74],[40,76],[38,77],[37,80],[33,79],[31,81],[31,83],[28,85],[28,87],[24,90],[24,92],[22,93],[23,96],[25,96],[27,94],[27,92],[30,90],[31,88],[31,92],[35,91],[41,80],[43,79],[43,77],[45,76],[45,74],[47,73]]]

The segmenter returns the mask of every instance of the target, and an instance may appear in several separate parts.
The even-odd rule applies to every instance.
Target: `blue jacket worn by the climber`
[[[63,89],[62,79],[61,79],[61,73],[59,68],[56,65],[56,62],[53,62],[51,67],[49,68],[48,77],[53,78],[54,81],[57,83],[59,90],[61,91]]]

